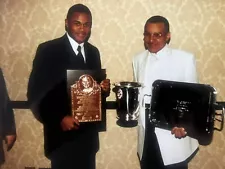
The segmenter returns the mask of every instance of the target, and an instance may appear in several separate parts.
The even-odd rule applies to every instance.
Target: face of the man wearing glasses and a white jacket
[[[147,23],[144,29],[144,45],[152,53],[160,51],[169,41],[170,33],[164,23]]]

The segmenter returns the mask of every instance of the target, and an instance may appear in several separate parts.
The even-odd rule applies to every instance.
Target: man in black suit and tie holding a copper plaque
[[[91,27],[90,10],[82,4],[72,6],[65,20],[66,34],[40,44],[33,61],[27,97],[34,115],[43,123],[45,155],[52,169],[95,168],[97,127],[80,124],[71,116],[66,84],[67,69],[101,69],[98,49],[87,42]],[[102,81],[101,87],[108,92],[109,80]]]

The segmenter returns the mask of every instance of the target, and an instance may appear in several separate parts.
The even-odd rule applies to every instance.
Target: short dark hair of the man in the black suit
[[[75,4],[75,5],[71,6],[67,12],[66,19],[69,19],[73,15],[74,12],[86,13],[90,16],[90,18],[92,20],[92,15],[91,15],[90,9],[83,4]]]

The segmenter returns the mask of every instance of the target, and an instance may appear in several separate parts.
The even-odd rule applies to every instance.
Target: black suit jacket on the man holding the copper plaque
[[[66,87],[67,69],[100,70],[100,54],[96,47],[84,44],[86,66],[82,66],[66,35],[38,46],[33,70],[28,83],[28,101],[34,114],[44,125],[45,154],[65,142],[73,141],[84,151],[97,152],[98,132],[94,125],[81,125],[79,130],[63,132],[60,122],[70,114],[70,101]]]

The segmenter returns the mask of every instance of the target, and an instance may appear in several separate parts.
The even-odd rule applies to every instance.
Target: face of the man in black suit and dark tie
[[[68,34],[77,42],[85,42],[91,33],[91,16],[86,13],[74,12],[65,20]]]

